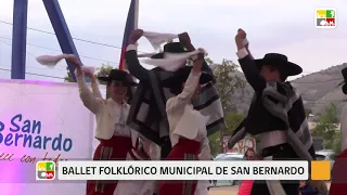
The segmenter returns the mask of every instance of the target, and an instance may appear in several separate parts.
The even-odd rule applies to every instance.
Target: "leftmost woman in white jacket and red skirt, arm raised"
[[[95,115],[95,138],[100,141],[93,160],[125,160],[132,148],[131,130],[126,126],[129,105],[125,102],[128,86],[133,86],[129,74],[113,69],[107,77],[110,99],[95,96],[88,88],[81,66],[76,57],[69,57],[76,66],[80,99],[85,106]],[[100,78],[105,80],[105,78]],[[88,181],[87,195],[113,195],[117,181]]]

